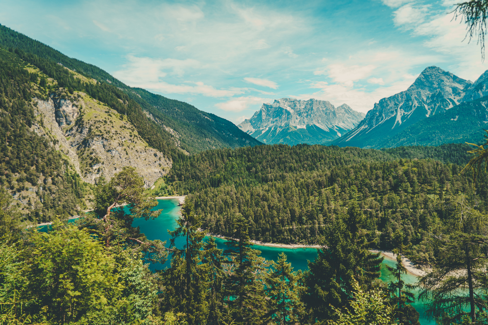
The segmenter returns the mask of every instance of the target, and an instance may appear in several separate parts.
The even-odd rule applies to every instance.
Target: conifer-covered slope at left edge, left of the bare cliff
[[[40,201],[31,202],[22,219],[45,222],[54,215],[74,214],[87,188],[55,150],[57,140],[30,130],[37,123],[31,99],[38,75],[26,66],[15,54],[0,49],[0,185],[13,193],[37,188]]]

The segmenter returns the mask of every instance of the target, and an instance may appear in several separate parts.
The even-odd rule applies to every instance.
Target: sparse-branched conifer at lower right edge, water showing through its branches
[[[460,322],[466,314],[473,323],[483,322],[488,309],[487,217],[463,194],[449,203],[452,213],[445,226],[430,238],[439,256],[432,271],[420,279],[421,298],[431,299],[428,312],[444,322]]]

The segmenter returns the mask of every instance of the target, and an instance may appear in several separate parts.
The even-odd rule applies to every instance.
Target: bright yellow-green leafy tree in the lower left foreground
[[[32,236],[26,256],[29,310],[58,324],[100,317],[120,296],[123,284],[115,260],[87,231],[53,224],[49,233]]]

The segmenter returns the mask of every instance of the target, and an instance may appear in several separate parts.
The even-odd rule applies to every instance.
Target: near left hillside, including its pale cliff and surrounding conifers
[[[18,49],[0,49],[0,71],[0,182],[24,218],[86,208],[86,183],[124,166],[151,186],[181,154],[173,136],[112,85]]]

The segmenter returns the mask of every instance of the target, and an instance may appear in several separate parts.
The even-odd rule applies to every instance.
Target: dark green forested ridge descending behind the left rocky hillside
[[[92,64],[67,57],[50,46],[2,25],[0,25],[0,47],[20,49],[25,53],[61,63],[70,70],[94,78],[102,84],[115,86],[137,102],[143,111],[152,115],[150,117],[163,130],[173,134],[177,145],[188,153],[261,144],[224,118],[205,113],[193,105],[178,100],[129,87]]]

